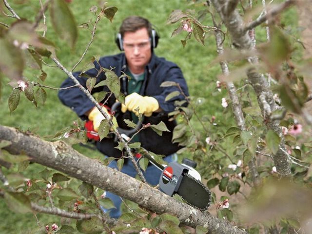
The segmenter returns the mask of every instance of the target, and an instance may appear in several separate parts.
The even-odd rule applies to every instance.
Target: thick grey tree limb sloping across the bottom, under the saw
[[[210,234],[247,233],[225,220],[219,220],[209,213],[202,213],[181,203],[137,179],[103,166],[97,160],[79,154],[62,141],[47,142],[14,128],[0,125],[0,140],[4,139],[12,142],[5,147],[5,150],[11,154],[23,152],[34,162],[113,192],[136,202],[143,208],[158,214],[167,212],[176,215],[181,223],[188,226],[194,228],[197,225],[204,226],[209,229]]]

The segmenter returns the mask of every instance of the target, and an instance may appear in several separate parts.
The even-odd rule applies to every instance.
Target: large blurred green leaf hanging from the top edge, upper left
[[[78,37],[78,30],[75,18],[66,2],[64,0],[52,1],[50,14],[56,34],[73,48]]]

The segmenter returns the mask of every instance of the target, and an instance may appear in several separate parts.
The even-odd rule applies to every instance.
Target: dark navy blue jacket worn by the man
[[[122,75],[122,72],[126,72],[127,63],[125,59],[124,53],[117,54],[114,56],[106,56],[102,57],[94,62],[95,68],[86,71],[85,73],[89,77],[97,77],[97,83],[101,80],[105,79],[104,73],[98,74],[100,71],[100,67],[111,69],[117,74],[118,77]],[[158,124],[160,121],[163,121],[170,132],[163,132],[162,136],[159,136],[154,132],[151,128],[146,128],[142,130],[138,136],[139,141],[141,142],[141,146],[145,149],[152,151],[156,154],[162,155],[170,155],[175,153],[179,147],[175,143],[172,143],[172,134],[173,129],[176,126],[175,121],[169,121],[168,113],[175,110],[175,101],[183,100],[183,95],[176,96],[168,101],[165,101],[165,98],[168,94],[173,91],[179,91],[176,86],[170,87],[160,87],[160,84],[164,81],[174,81],[179,83],[181,89],[183,90],[186,96],[189,96],[188,88],[186,81],[183,77],[182,71],[180,68],[173,62],[167,61],[164,58],[158,58],[156,55],[152,55],[151,61],[146,66],[145,78],[139,92],[142,96],[150,96],[157,99],[159,107],[163,110],[162,113],[153,113],[151,117],[144,117],[143,123],[151,123]],[[79,76],[80,72],[73,73],[73,75],[78,79],[78,81],[86,87],[85,77]],[[121,80],[121,91],[127,96],[127,83],[128,80],[126,77]],[[61,85],[61,88],[69,87],[74,85],[75,83],[67,78]],[[107,86],[100,86],[98,88],[94,88],[92,93],[100,92],[100,91],[109,91]],[[86,119],[84,113],[89,111],[94,107],[94,104],[91,100],[83,94],[78,87],[63,89],[59,91],[59,99],[61,102],[70,107],[73,111],[77,113],[79,117],[82,119]],[[105,99],[104,99],[105,100]],[[116,101],[115,96],[110,97],[107,101],[108,106],[112,106]],[[119,115],[117,117],[117,122],[119,127],[126,128],[125,123],[122,119],[128,118],[131,119],[131,114],[126,112],[123,115]],[[121,153],[119,150],[115,149],[117,143],[114,142],[114,138],[104,138],[101,141],[96,143],[97,148],[100,152],[107,156],[120,157]]]

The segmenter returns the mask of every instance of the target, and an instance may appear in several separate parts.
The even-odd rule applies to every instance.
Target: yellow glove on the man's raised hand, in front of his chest
[[[136,109],[139,109],[138,112]],[[159,109],[159,104],[156,98],[141,96],[137,93],[128,95],[125,99],[125,105],[121,105],[121,111],[125,113],[127,110],[132,111],[138,116],[143,114],[146,117],[150,117],[154,111]]]

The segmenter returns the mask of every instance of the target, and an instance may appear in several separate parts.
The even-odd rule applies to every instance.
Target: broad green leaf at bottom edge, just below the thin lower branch
[[[77,220],[76,227],[80,233],[86,234],[101,234],[104,230],[103,223],[98,217]]]

